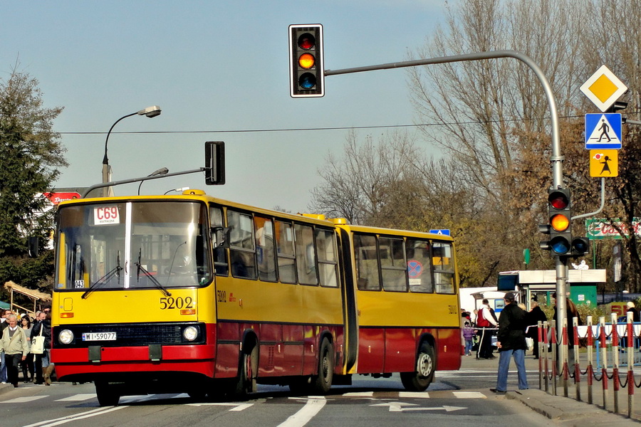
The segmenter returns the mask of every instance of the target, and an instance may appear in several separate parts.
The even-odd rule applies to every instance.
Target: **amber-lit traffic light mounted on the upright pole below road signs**
[[[568,189],[548,190],[548,218],[548,224],[538,227],[541,233],[550,235],[550,240],[540,243],[541,249],[552,251],[552,255],[570,255],[572,233]]]

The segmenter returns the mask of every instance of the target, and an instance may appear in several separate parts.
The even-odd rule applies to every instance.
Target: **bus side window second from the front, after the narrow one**
[[[229,226],[229,258],[234,278],[256,278],[254,223],[248,214],[227,210]]]

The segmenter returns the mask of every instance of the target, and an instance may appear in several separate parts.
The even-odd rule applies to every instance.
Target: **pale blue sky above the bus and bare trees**
[[[113,179],[202,167],[204,142],[222,140],[226,185],[205,186],[202,174],[192,174],[147,181],[141,194],[189,186],[246,204],[306,211],[311,189],[320,184],[317,169],[328,152],[342,152],[348,131],[239,131],[410,125],[415,112],[403,70],[330,76],[325,97],[292,99],[288,25],[323,24],[325,69],[388,63],[424,44],[444,22],[445,1],[308,4],[5,0],[0,76],[19,60],[19,70],[39,81],[46,106],[65,108],[54,123],[68,149],[59,187],[100,182],[113,122],[160,105],[159,117],[128,117],[114,128],[108,144]],[[137,184],[115,188],[116,194],[136,191]]]

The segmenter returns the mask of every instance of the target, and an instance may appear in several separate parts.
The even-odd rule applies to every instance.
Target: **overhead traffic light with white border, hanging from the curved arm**
[[[289,87],[291,97],[325,95],[323,26],[289,26]]]

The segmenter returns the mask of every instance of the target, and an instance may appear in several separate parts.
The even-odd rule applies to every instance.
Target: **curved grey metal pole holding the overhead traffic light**
[[[342,70],[325,70],[325,75],[339,75],[339,74],[350,74],[350,73],[361,73],[363,71],[373,71],[373,70],[390,70],[392,68],[407,68],[407,67],[417,67],[419,65],[432,65],[432,64],[444,64],[444,63],[455,63],[455,62],[465,62],[471,60],[483,60],[483,59],[496,59],[496,58],[514,58],[520,60],[522,63],[525,63],[536,75],[539,83],[543,87],[543,92],[546,94],[546,99],[548,100],[548,108],[550,110],[550,120],[552,128],[552,187],[554,189],[563,188],[563,159],[561,155],[561,142],[558,132],[558,112],[556,108],[556,100],[552,93],[552,87],[546,78],[546,75],[543,74],[543,70],[524,53],[516,51],[491,51],[491,52],[479,52],[479,53],[467,53],[464,55],[454,55],[454,56],[442,56],[439,58],[426,58],[426,59],[417,59],[417,60],[406,60],[396,63],[386,63],[380,65],[370,65],[367,67],[357,67],[357,68],[343,68]],[[568,258],[564,256],[555,256],[556,262],[556,310],[558,313],[558,320],[563,320],[566,318],[567,305],[566,305],[566,283],[567,283],[567,271],[568,271]],[[561,325],[557,325],[558,337],[561,339]],[[559,341],[560,342],[560,341]]]

